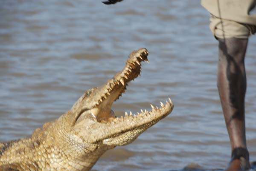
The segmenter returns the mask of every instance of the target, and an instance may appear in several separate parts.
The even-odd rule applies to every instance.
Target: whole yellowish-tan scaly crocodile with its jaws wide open
[[[133,51],[125,68],[104,85],[91,88],[57,120],[37,128],[31,137],[0,142],[0,171],[89,171],[108,149],[133,142],[172,112],[169,99],[159,108],[116,117],[111,105],[140,75],[148,50]]]

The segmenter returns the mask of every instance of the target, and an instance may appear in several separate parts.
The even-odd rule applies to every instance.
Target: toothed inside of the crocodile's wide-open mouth
[[[99,87],[98,89],[102,91],[102,96],[99,98],[98,103],[96,104],[97,114],[94,114],[98,122],[101,123],[108,123],[110,121],[117,121],[119,117],[114,115],[114,112],[111,110],[111,105],[114,101],[116,101],[123,93],[125,93],[126,86],[131,80],[134,80],[140,75],[141,71],[141,63],[143,61],[148,62],[148,50],[146,48],[140,48],[137,51],[133,51],[130,55],[128,60],[126,61],[125,68],[122,71],[118,72],[112,79],[108,80],[108,82]],[[166,101],[166,105],[170,106],[172,102]],[[161,108],[165,108],[166,106],[163,103],[160,104],[160,108],[154,107],[151,105],[154,112],[157,110],[161,110]],[[168,107],[166,107],[168,108]],[[141,112],[137,113],[140,115],[147,116],[148,114],[153,113],[153,111],[146,111],[141,110]],[[168,110],[166,109],[166,113],[169,114]],[[131,112],[128,114],[125,112],[124,117],[136,117],[137,115],[133,115]],[[120,117],[124,118],[123,116]]]

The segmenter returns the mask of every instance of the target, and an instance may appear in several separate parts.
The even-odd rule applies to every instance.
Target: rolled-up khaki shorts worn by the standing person
[[[256,32],[256,0],[201,0],[209,11],[210,29],[216,38],[248,38]]]

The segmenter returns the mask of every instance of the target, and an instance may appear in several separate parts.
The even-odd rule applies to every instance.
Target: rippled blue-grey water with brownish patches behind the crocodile
[[[116,115],[170,97],[171,115],[135,142],[106,152],[93,171],[223,170],[230,144],[216,87],[218,49],[199,0],[2,0],[0,141],[55,120],[86,89],[120,71],[131,51],[150,63],[113,105]],[[256,37],[247,49],[246,126],[256,160]]]

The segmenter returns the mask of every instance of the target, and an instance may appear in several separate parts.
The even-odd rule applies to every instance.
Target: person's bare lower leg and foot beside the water
[[[246,74],[244,56],[248,39],[219,39],[218,91],[230,137],[232,161],[227,170],[246,170],[249,166],[244,120]],[[244,158],[242,163],[241,157]]]

